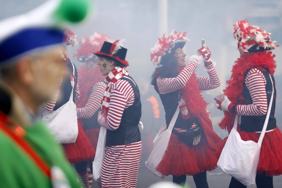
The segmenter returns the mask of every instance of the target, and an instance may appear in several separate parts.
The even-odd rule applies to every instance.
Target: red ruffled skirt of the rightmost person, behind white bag
[[[244,141],[252,140],[257,142],[260,133],[245,132],[237,130]],[[261,154],[259,165],[257,168],[258,174],[265,171],[266,176],[278,176],[282,174],[282,134],[278,127],[273,131],[266,132],[261,144]]]

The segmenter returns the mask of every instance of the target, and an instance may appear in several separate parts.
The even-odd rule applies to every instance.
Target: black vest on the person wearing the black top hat
[[[120,79],[126,80],[130,83],[134,91],[135,101],[133,105],[124,109],[122,120],[118,129],[116,129],[115,131],[107,130],[105,146],[131,144],[141,140],[141,135],[138,127],[141,118],[140,93],[136,83],[126,77],[127,76],[124,76]]]

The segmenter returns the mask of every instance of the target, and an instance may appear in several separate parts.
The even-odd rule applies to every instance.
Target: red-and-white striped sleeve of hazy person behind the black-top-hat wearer
[[[95,114],[100,108],[106,87],[107,85],[104,82],[98,82],[93,85],[85,106],[76,108],[78,118],[91,118]]]

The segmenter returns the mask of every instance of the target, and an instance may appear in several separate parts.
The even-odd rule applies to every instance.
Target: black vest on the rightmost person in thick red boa
[[[266,90],[266,98],[267,98],[267,105],[269,105],[270,103],[270,98],[272,95],[272,84],[271,84],[271,79],[269,77],[269,74],[267,71],[262,71],[260,70],[263,75],[265,76],[266,79],[266,86],[265,86],[265,90]],[[271,76],[272,81],[273,81],[273,87],[275,85],[275,80],[274,77]],[[244,86],[244,90],[243,90],[243,97],[244,97],[244,101],[243,101],[243,105],[248,105],[248,104],[252,104],[252,98],[250,96],[250,92],[248,90],[248,88],[246,87],[245,82],[243,83]],[[268,124],[266,127],[266,131],[268,130],[272,130],[276,128],[276,119],[274,117],[274,111],[275,111],[275,98],[276,98],[276,89],[274,87],[274,94],[273,94],[273,101],[272,101],[272,107],[270,110],[270,116],[269,116],[269,120],[268,120]],[[241,130],[242,131],[246,131],[246,132],[259,132],[262,131],[263,129],[263,124],[265,122],[265,118],[266,118],[266,114],[263,116],[242,116],[241,118]]]

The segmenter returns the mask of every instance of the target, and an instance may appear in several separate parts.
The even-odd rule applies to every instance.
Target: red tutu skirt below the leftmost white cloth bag
[[[78,136],[74,143],[62,144],[70,163],[94,160],[95,150],[78,122]]]

